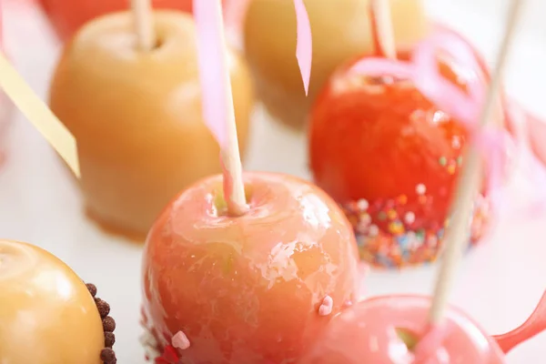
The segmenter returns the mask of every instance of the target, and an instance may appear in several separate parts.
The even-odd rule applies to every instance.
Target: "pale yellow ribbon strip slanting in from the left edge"
[[[76,139],[35,95],[35,92],[19,76],[13,66],[0,52],[0,87],[11,98],[15,106],[54,147],[76,177],[80,177]]]

